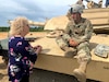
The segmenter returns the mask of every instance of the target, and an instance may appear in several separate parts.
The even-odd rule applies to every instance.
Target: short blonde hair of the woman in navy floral
[[[12,23],[9,32],[9,36],[19,35],[24,31],[24,26],[28,25],[28,21],[24,16],[16,17]]]

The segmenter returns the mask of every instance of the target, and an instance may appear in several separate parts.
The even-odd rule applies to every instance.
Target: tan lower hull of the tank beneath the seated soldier
[[[87,67],[87,79],[101,82],[109,81],[109,58],[100,58],[94,54],[94,49],[98,44],[109,45],[108,42],[109,38],[107,37],[92,37],[92,61],[88,63]],[[41,45],[44,47],[41,55],[38,56],[38,60],[35,63],[35,68],[73,75],[73,70],[78,67],[78,63],[75,58],[64,57],[64,52],[56,44],[56,38],[40,38],[32,43],[32,45]]]

